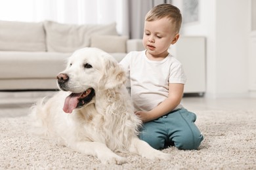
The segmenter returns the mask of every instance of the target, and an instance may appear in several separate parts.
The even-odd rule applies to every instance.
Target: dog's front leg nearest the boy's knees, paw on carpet
[[[130,152],[139,154],[142,158],[150,160],[169,160],[171,158],[170,154],[165,154],[160,150],[152,148],[148,143],[137,137],[131,140]]]

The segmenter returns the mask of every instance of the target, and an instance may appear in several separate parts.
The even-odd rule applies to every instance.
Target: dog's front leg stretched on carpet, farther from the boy
[[[79,142],[70,146],[77,152],[83,154],[96,156],[102,163],[116,163],[123,164],[126,161],[125,158],[118,156],[112,150],[110,150],[106,144],[97,142]]]

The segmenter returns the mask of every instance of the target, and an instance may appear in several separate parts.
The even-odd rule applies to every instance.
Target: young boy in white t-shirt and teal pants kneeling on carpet
[[[192,150],[203,140],[194,124],[196,114],[181,105],[186,82],[182,65],[167,51],[179,39],[181,21],[177,7],[154,7],[144,22],[146,50],[130,52],[120,62],[130,79],[135,114],[144,123],[139,137],[156,149],[174,145]]]

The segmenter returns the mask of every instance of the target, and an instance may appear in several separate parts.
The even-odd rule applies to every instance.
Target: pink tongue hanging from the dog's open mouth
[[[71,93],[66,97],[63,110],[66,113],[72,113],[72,111],[77,107],[78,97],[81,96],[81,93]]]

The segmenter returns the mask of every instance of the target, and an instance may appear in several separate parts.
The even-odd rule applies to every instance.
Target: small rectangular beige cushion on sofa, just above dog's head
[[[100,48],[109,53],[125,53],[127,39],[128,37],[125,36],[93,35],[91,37],[91,47]]]

